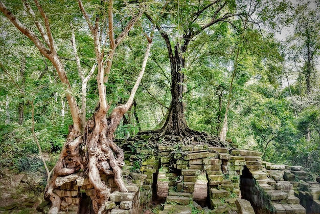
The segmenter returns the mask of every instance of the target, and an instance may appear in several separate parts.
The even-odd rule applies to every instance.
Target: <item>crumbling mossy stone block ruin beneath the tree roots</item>
[[[200,173],[207,177],[207,201],[210,213],[320,213],[320,178],[311,181],[302,166],[263,162],[255,151],[206,145],[159,145],[156,154],[141,149],[135,154],[125,151],[122,174],[129,192],[113,192],[105,211],[111,214],[143,213],[157,195],[159,168],[165,168],[169,193],[164,213],[192,213],[195,183]],[[135,161],[144,157],[140,173],[132,172]],[[141,161],[141,159],[139,159]],[[93,184],[80,173],[57,179],[61,197],[59,213],[93,213],[89,211]],[[102,174],[111,191],[117,189],[112,176]],[[201,209],[201,207],[199,207]],[[204,212],[205,213],[205,212]]]

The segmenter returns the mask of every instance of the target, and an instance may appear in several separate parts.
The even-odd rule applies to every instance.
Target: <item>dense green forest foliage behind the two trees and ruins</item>
[[[163,1],[145,1],[144,14],[113,57],[105,84],[110,106],[128,99],[148,44],[145,34],[151,32],[152,24],[166,31],[174,47],[184,39],[181,35],[189,25],[198,32],[210,20],[212,14],[206,13],[201,14],[199,23],[188,19],[208,2],[169,1],[164,10]],[[263,1],[221,1],[219,13],[238,15],[190,39],[181,55],[185,65],[179,84],[184,90],[179,102],[185,107],[190,129],[219,136],[227,109],[227,139],[240,148],[262,152],[264,161],[302,165],[315,175],[320,168],[320,5],[268,2],[266,8]],[[84,3],[92,14],[100,7],[99,1]],[[78,75],[72,38],[84,73],[95,65],[94,39],[76,3],[41,4],[70,80],[68,93],[81,103],[83,80]],[[139,4],[141,1],[115,1],[116,35]],[[6,5],[29,25],[31,20],[20,1],[8,1]],[[68,126],[73,124],[65,86],[32,42],[3,14],[0,20],[0,166],[14,172],[44,173],[33,132],[51,169],[59,158]],[[166,121],[171,108],[171,72],[161,32],[154,32],[145,74],[115,132],[116,139],[158,129]],[[96,75],[93,70],[87,81],[87,118],[92,117],[99,100]]]

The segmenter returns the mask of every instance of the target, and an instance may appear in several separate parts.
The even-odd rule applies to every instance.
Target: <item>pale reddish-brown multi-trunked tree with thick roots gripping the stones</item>
[[[27,0],[22,0],[22,2],[26,9],[26,12],[24,13],[29,16],[28,20],[32,20],[36,28],[30,27],[30,23],[25,24],[20,22],[18,17],[16,17],[2,1],[0,1],[0,11],[20,32],[25,34],[34,43],[42,55],[53,63],[61,82],[64,84],[65,96],[73,119],[73,125],[70,126],[69,134],[62,148],[59,160],[56,163],[52,172],[52,177],[45,188],[44,197],[50,199],[52,202],[49,213],[57,213],[60,209],[61,199],[54,193],[54,190],[58,185],[61,185],[61,182],[64,182],[63,178],[78,172],[87,175],[90,183],[94,185],[95,199],[92,200],[93,208],[96,213],[102,213],[105,208],[105,202],[108,201],[111,193],[110,187],[101,180],[102,174],[114,176],[118,191],[128,191],[121,177],[121,166],[124,165],[124,153],[122,149],[113,142],[113,133],[119,125],[121,118],[133,103],[135,92],[139,87],[146,68],[151,48],[152,32],[154,29],[151,30],[150,36],[145,33],[148,45],[142,62],[141,71],[136,78],[127,102],[118,105],[115,109],[110,111],[111,113],[107,116],[110,104],[106,101],[107,95],[105,83],[108,81],[115,50],[120,42],[126,37],[133,25],[142,16],[145,6],[141,4],[130,8],[131,13],[132,11],[135,12],[130,14],[130,19],[126,22],[122,32],[115,38],[112,0],[102,1],[102,5],[96,7],[99,9],[96,9],[93,14],[88,14],[85,10],[85,5],[82,4],[81,0],[78,0],[79,8],[77,16],[79,17],[79,14],[82,14],[84,17],[87,24],[86,28],[90,31],[94,40],[94,51],[96,55],[96,62],[89,72],[85,72],[85,70],[81,68],[80,58],[77,53],[74,28],[73,25],[71,25],[72,48],[76,59],[78,74],[82,82],[82,103],[81,108],[79,108],[76,98],[72,93],[72,87],[68,80],[65,66],[62,63],[58,53],[59,51],[55,44],[51,20],[49,18],[50,16],[47,15],[38,0],[34,0],[34,5],[30,5]],[[88,7],[89,6],[92,5],[88,4]],[[92,8],[90,8],[90,10],[92,10]],[[78,19],[78,17],[75,17],[73,20]],[[92,19],[94,19],[94,21]],[[36,29],[37,32],[34,29]],[[106,31],[103,31],[105,29]],[[109,40],[108,42],[107,39]],[[93,117],[86,121],[86,84],[96,70],[98,70],[97,85],[99,102]],[[50,177],[50,175],[48,175],[48,177]],[[59,182],[57,182],[58,178]]]

